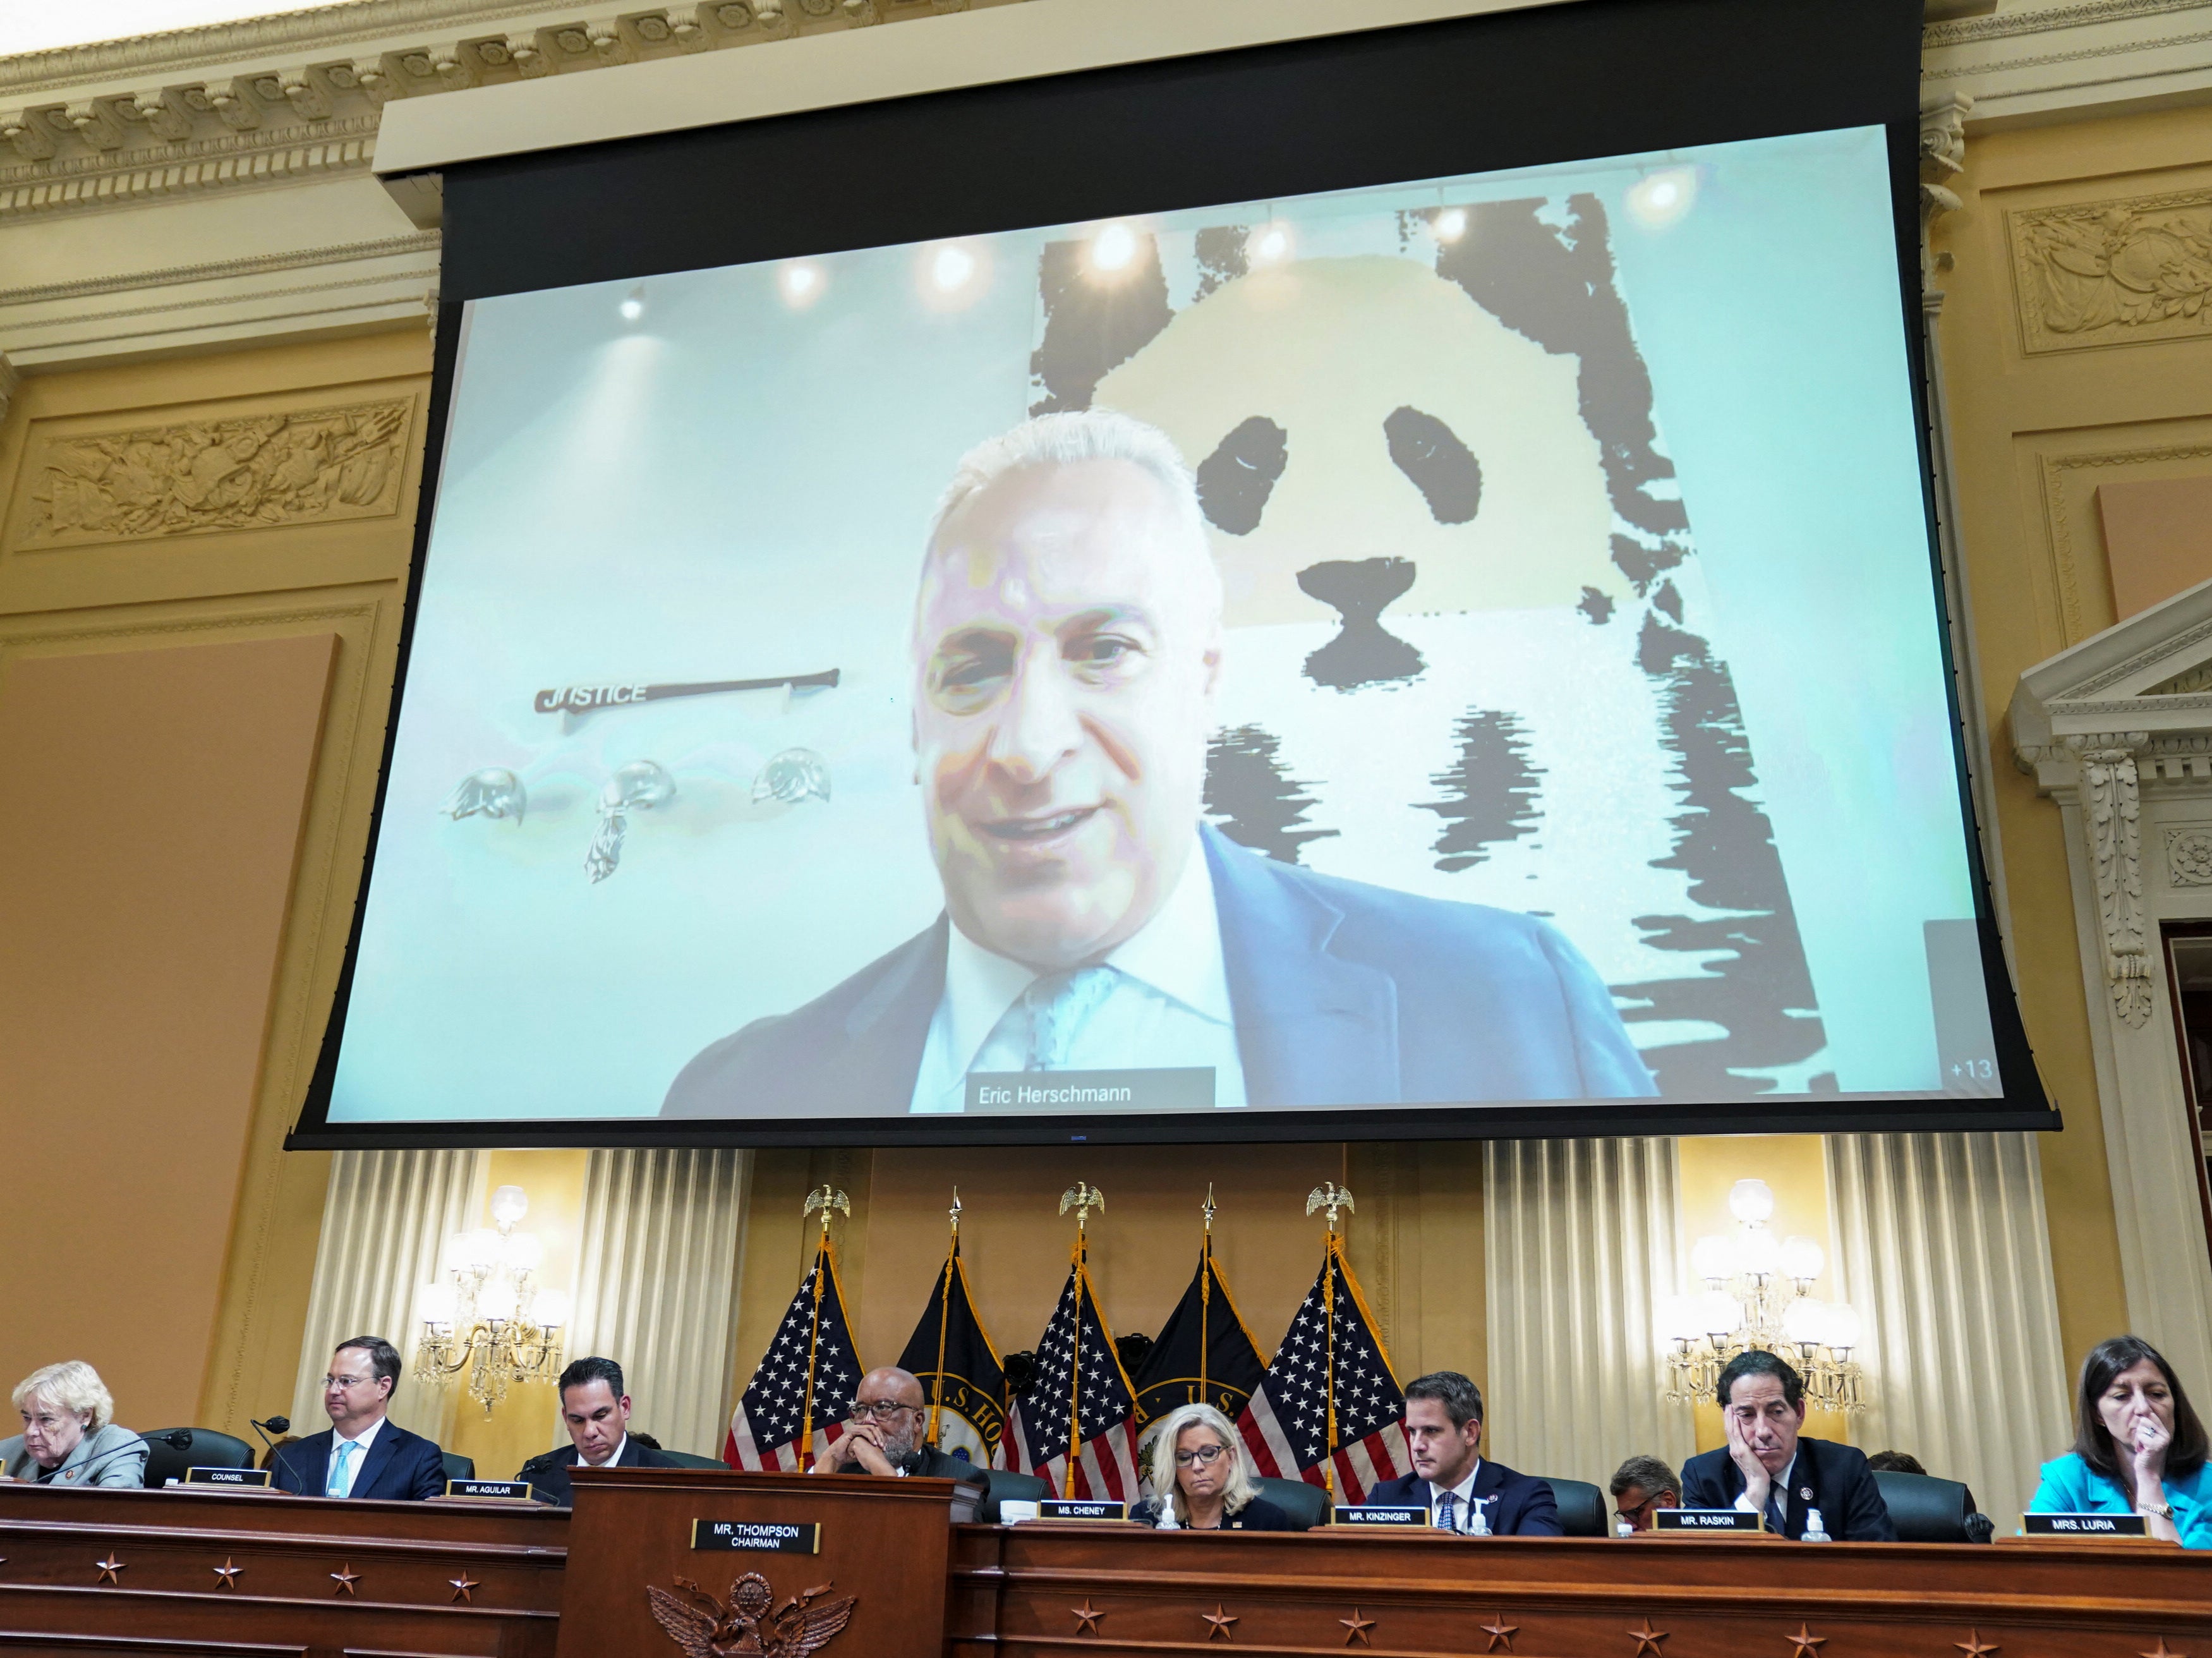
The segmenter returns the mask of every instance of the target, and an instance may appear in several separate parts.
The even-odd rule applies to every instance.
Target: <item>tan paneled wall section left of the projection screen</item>
[[[97,369],[0,422],[4,1382],[82,1355],[124,1421],[234,1433],[292,1393],[327,1161],[279,1145],[358,882],[427,367],[414,329]],[[257,440],[288,466],[248,504],[212,455]]]

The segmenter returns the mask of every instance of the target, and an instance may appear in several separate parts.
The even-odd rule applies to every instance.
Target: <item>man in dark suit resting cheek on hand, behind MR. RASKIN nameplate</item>
[[[1741,1508],[1767,1530],[1803,1539],[1818,1510],[1827,1536],[1843,1543],[1896,1543],[1898,1528],[1867,1470],[1867,1455],[1807,1439],[1805,1382],[1774,1353],[1739,1353],[1714,1386],[1728,1446],[1681,1466],[1683,1508]]]

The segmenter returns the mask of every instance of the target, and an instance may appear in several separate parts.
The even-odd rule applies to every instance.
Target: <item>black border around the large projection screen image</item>
[[[1978,833],[1966,836],[1966,853],[2004,1088],[1993,1101],[1938,1096],[1891,1103],[1858,1096],[1836,1110],[1787,1112],[1772,1110],[1778,1099],[1670,1099],[1241,1110],[1234,1116],[327,1121],[436,520],[431,506],[465,301],[495,294],[1880,124],[1889,133],[1898,303],[1911,365],[1960,814],[1962,822],[1975,825],[1936,535],[1920,329],[1920,0],[1670,0],[1666,7],[1650,0],[1575,0],[449,170],[427,453],[376,805],[336,999],[285,1147],[1146,1145],[2062,1127],[2028,1050]],[[1778,66],[1809,62],[1820,64],[1818,75],[1778,73]],[[1305,119],[1283,119],[1285,111]],[[1060,144],[1031,141],[1044,122],[1060,124]],[[1210,130],[1223,122],[1234,141],[1219,141],[1219,130]],[[1086,141],[1102,135],[1115,141]],[[825,155],[867,157],[869,166],[845,168],[834,188],[825,188]],[[1411,155],[1420,159],[1409,166],[1405,157]],[[834,166],[827,170],[836,172]],[[745,201],[703,201],[695,183],[701,175],[748,179],[757,188]],[[588,210],[577,203],[588,203]],[[1803,1096],[1787,1099],[1796,1105]]]

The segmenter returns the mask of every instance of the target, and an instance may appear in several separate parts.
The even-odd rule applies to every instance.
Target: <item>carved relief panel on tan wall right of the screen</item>
[[[2212,186],[2015,208],[2024,351],[2212,336]]]

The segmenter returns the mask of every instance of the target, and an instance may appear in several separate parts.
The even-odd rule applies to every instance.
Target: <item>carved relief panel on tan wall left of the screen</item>
[[[11,539],[38,550],[389,517],[411,416],[414,398],[376,398],[117,431],[33,429]]]

